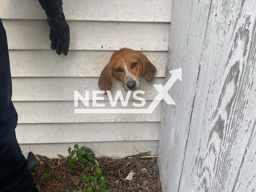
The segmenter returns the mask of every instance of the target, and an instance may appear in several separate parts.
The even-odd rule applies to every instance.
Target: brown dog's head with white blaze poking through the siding
[[[100,74],[98,86],[100,90],[110,91],[112,88],[112,76],[122,81],[124,90],[133,91],[140,87],[140,75],[143,75],[147,82],[151,82],[156,73],[156,67],[141,52],[128,48],[121,48],[110,58]]]

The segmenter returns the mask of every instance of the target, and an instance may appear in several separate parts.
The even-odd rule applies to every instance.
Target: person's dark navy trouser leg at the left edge
[[[0,192],[37,192],[16,139],[18,115],[11,98],[7,38],[0,20]]]

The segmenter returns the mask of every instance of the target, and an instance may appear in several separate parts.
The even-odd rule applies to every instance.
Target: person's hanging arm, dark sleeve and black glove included
[[[62,9],[62,0],[38,0],[47,16],[47,23],[51,27],[51,49],[56,50],[58,55],[68,54],[69,26],[65,20]]]

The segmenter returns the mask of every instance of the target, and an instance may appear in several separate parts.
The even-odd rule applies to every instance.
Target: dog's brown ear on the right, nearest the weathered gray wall
[[[138,55],[142,64],[143,77],[147,82],[151,82],[156,73],[156,67],[148,60],[144,54],[138,52]]]

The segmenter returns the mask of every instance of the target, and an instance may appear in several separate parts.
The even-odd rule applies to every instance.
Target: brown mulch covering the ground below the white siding
[[[82,167],[76,164],[76,168],[70,168],[66,164],[66,158],[58,156],[59,158],[48,158],[36,155],[37,165],[32,173],[34,184],[38,188],[40,186],[38,192],[83,192],[85,183],[81,182]],[[127,160],[100,157],[96,160],[102,169],[102,175],[108,179],[108,187],[112,192],[162,192],[156,158]],[[125,180],[131,171],[135,173],[133,179]],[[51,175],[52,181],[42,178],[44,173]]]

